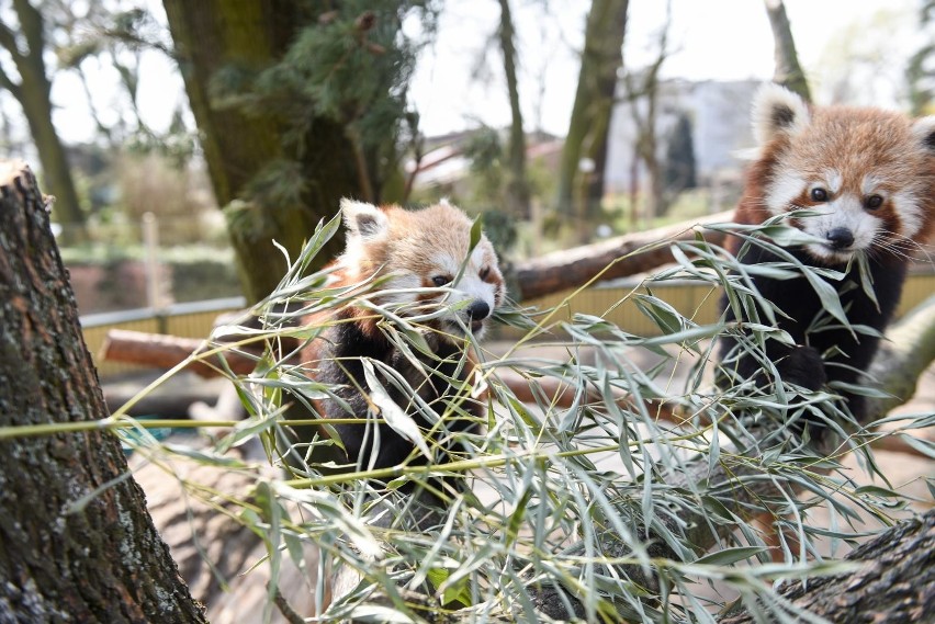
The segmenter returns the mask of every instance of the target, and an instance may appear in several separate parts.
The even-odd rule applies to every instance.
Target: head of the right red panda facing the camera
[[[762,205],[773,215],[798,209],[796,227],[821,239],[816,259],[855,253],[904,254],[933,229],[935,117],[844,106],[810,110],[777,87],[761,90],[754,131],[768,168]]]

